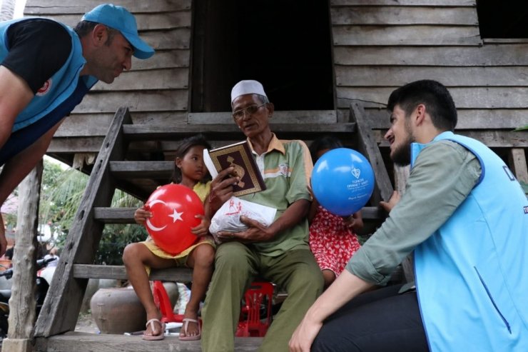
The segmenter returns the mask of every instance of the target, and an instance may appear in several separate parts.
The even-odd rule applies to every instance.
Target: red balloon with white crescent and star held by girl
[[[154,243],[169,254],[176,255],[189,248],[198,238],[191,228],[200,224],[203,203],[191,188],[167,184],[153,191],[145,203],[152,217],[145,227]]]

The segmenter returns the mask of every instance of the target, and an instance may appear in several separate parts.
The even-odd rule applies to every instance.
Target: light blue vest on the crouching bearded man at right
[[[430,351],[526,352],[527,197],[487,146],[452,132],[431,143],[440,139],[469,149],[482,175],[449,220],[415,248],[417,295]],[[413,163],[427,145],[412,145]]]

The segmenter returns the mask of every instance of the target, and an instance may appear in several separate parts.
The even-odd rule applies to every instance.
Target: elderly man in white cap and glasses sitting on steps
[[[259,276],[288,292],[260,351],[288,351],[295,326],[323,291],[323,276],[308,247],[306,215],[313,164],[303,141],[279,140],[270,130],[274,107],[258,81],[238,82],[231,91],[231,107],[235,124],[248,137],[266,185],[265,191],[240,198],[278,211],[268,227],[241,217],[248,230],[218,233],[223,243],[218,246],[215,272],[205,298],[202,349],[234,350],[240,300],[251,281]],[[231,185],[237,178],[229,177],[232,169],[221,171],[211,184],[206,206],[212,213],[233,193]]]

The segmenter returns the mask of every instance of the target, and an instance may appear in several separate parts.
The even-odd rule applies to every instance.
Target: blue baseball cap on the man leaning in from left
[[[154,54],[154,49],[139,37],[136,18],[123,6],[101,4],[86,12],[81,20],[105,24],[120,31],[133,46],[133,56],[138,59],[148,59]]]

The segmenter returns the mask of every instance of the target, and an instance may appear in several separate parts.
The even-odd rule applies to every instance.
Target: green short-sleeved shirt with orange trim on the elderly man
[[[251,142],[249,144],[253,150]],[[263,174],[266,189],[239,198],[277,208],[275,220],[295,201],[311,201],[308,184],[313,163],[303,141],[279,140],[273,134],[268,151],[260,156],[255,151],[253,154]],[[278,233],[271,241],[253,243],[253,246],[265,256],[279,256],[293,248],[309,248],[308,220],[304,218],[297,225]]]

